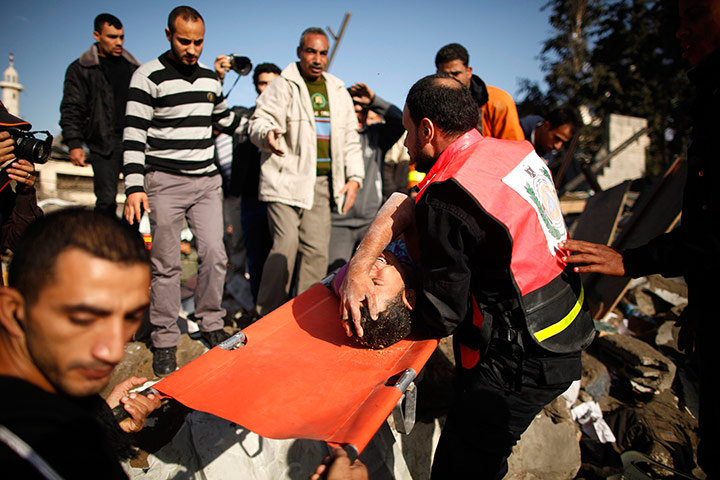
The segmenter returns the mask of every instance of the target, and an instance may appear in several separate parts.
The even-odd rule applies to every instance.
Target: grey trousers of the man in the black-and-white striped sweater
[[[149,172],[145,192],[150,201],[152,233],[152,283],[150,289],[150,334],[156,348],[174,347],[180,341],[180,231],[183,220],[195,237],[198,251],[198,280],[195,316],[200,330],[223,327],[225,310],[220,306],[225,284],[227,257],[223,245],[222,191],[220,175],[191,177]]]

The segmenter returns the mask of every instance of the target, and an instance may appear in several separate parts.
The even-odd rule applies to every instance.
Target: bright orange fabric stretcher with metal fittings
[[[438,340],[369,350],[346,336],[338,308],[317,284],[154,388],[268,438],[324,440],[359,454],[394,409],[407,433],[412,381]]]

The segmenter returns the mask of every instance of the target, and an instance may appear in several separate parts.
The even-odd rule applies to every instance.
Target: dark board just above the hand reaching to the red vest
[[[570,237],[609,245],[625,206],[630,183],[628,180],[589,198],[585,210],[570,228]]]

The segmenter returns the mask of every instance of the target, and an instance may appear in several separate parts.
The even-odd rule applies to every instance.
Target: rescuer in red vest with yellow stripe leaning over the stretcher
[[[477,122],[458,81],[435,75],[411,88],[405,144],[427,172],[417,205],[390,198],[341,287],[346,331],[352,320],[362,336],[361,303],[377,317],[378,255],[416,229],[416,328],[455,333],[460,386],[433,462],[438,479],[502,478],[535,415],[580,378],[580,351],[594,338],[580,278],[560,261],[567,234],[547,167],[529,143],[483,137]]]

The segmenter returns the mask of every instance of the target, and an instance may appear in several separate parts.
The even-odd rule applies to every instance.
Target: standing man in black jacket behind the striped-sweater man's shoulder
[[[123,49],[124,31],[117,17],[95,17],[93,37],[96,43],[65,73],[60,126],[73,165],[86,167],[83,143],[90,149],[95,210],[115,216],[125,103],[130,77],[140,62]]]

